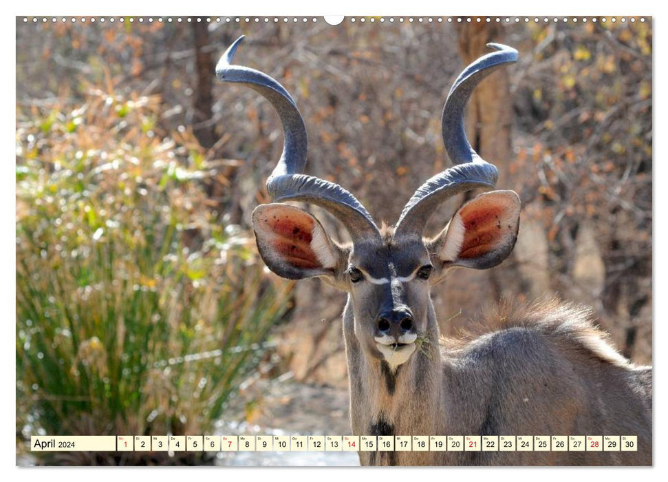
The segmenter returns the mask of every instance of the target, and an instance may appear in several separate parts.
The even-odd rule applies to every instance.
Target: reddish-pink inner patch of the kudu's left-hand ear
[[[283,260],[297,268],[321,267],[311,248],[314,226],[312,218],[274,211],[261,221],[265,224],[265,229],[272,233],[270,243]]]

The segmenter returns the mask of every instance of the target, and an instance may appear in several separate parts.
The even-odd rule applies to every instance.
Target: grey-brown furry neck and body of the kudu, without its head
[[[651,367],[596,353],[606,342],[576,309],[551,304],[518,316],[440,347],[430,306],[430,343],[398,367],[391,393],[382,362],[360,349],[349,300],[353,434],[374,434],[380,419],[393,435],[637,435],[637,452],[359,452],[362,465],[651,465]]]

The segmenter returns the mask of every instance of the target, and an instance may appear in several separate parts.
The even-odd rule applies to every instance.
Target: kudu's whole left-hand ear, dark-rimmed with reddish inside
[[[297,207],[260,205],[252,213],[257,249],[269,269],[290,280],[335,275],[341,251],[316,218]]]

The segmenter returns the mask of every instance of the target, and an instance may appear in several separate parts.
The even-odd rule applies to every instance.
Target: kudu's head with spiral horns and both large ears
[[[513,191],[489,191],[457,209],[434,238],[424,238],[425,224],[445,200],[472,189],[491,189],[497,169],[471,147],[464,132],[464,107],[482,78],[517,60],[517,51],[497,50],[466,67],[447,97],[442,135],[453,167],[424,182],[404,207],[394,229],[380,230],[367,210],[341,186],[301,174],[306,164],[306,129],[288,91],[270,76],[231,65],[243,36],[216,66],[221,81],[256,90],[272,103],[283,123],[283,154],[267,180],[274,202],[253,211],[252,225],[264,262],[279,276],[297,280],[320,276],[349,293],[354,332],[372,358],[396,368],[416,349],[433,306],[429,290],[455,266],[487,269],[502,262],[515,246],[519,198]],[[284,204],[310,202],[332,213],[352,238],[332,240],[310,213]],[[432,314],[433,317],[433,314]]]

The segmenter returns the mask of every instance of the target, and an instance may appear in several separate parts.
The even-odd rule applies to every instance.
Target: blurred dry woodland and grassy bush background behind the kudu
[[[441,331],[456,335],[502,299],[557,296],[593,306],[621,353],[651,363],[651,18],[105,20],[17,18],[19,465],[356,463],[37,458],[27,443],[349,433],[345,293],[281,280],[255,248],[250,213],[268,201],[282,130],[258,94],[215,78],[240,34],[235,63],[277,78],[299,105],[308,174],[390,224],[449,166],[440,114],[457,74],[490,41],[517,48],[519,62],[477,88],[466,122],[499,189],[521,196],[519,238],[502,266],[435,287]],[[431,233],[462,200],[433,216]]]

